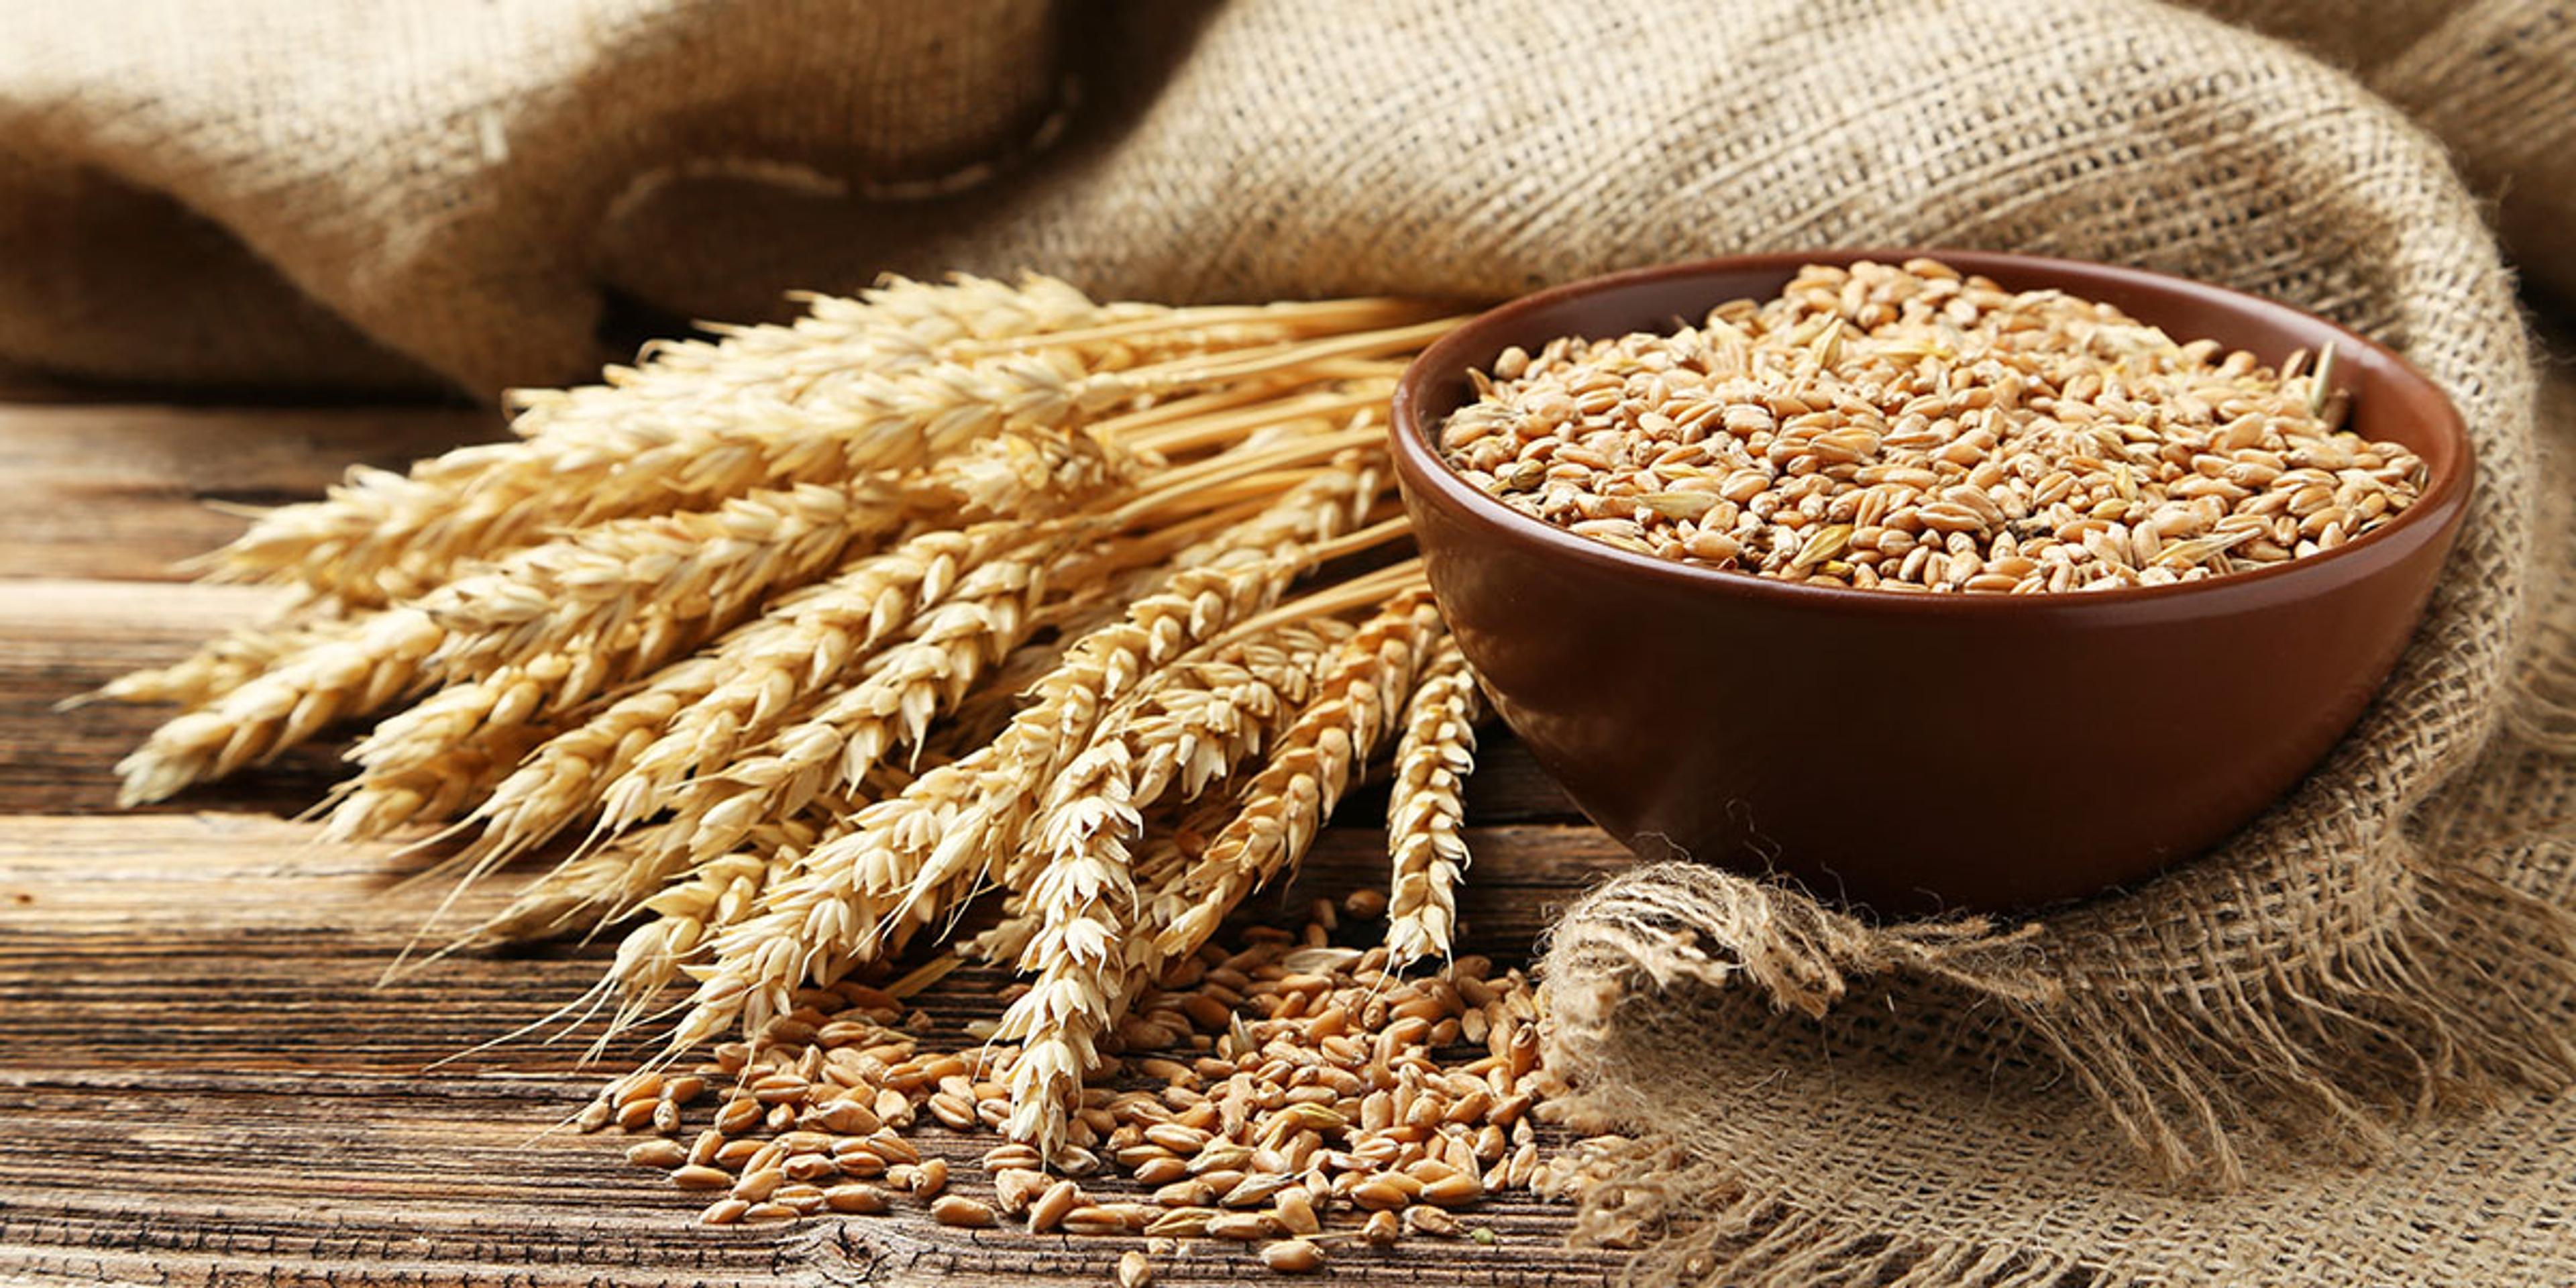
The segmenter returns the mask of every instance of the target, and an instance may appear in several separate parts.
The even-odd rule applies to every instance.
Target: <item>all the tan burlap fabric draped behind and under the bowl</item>
[[[2236,8],[2349,72],[2146,0],[18,13],[0,355],[487,394],[585,371],[611,296],[1499,296],[1855,242],[2300,301],[2478,435],[2365,724],[2226,853],[2030,925],[1595,891],[1556,1054],[1656,1131],[1587,1229],[1708,1283],[2576,1283],[2576,479],[2483,219],[2576,283],[2576,5]]]

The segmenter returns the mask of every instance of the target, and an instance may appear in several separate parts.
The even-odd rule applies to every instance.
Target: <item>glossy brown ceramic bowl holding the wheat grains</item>
[[[2174,587],[1896,595],[1620,551],[1520,515],[1435,451],[1468,368],[1558,335],[1672,330],[1803,263],[1937,255],[2280,363],[2334,343],[2365,438],[2424,497],[2334,551]],[[1432,590],[1502,719],[1641,855],[1777,871],[1878,912],[2027,907],[2143,878],[2280,799],[2370,703],[2424,613],[2470,446],[2396,353],[2197,281],[1955,250],[1739,255],[1582,281],[1432,345],[1394,407]]]

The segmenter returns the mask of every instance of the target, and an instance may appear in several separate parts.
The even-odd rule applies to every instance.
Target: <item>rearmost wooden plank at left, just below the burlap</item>
[[[314,497],[350,464],[502,433],[461,407],[0,404],[0,574],[175,580],[242,531],[209,500]]]

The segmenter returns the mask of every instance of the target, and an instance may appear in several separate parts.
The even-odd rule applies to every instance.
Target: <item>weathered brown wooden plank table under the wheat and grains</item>
[[[438,889],[399,884],[417,858],[291,822],[337,747],[113,811],[111,765],[165,711],[54,703],[270,603],[170,572],[240,528],[206,500],[307,497],[348,461],[497,433],[474,410],[155,407],[0,379],[0,1283],[1108,1283],[1133,1242],[920,1216],[701,1229],[698,1200],[626,1167],[621,1139],[546,1133],[598,1084],[580,1043],[433,1066],[577,994],[605,948],[376,987]],[[1471,819],[1468,948],[1499,958],[1525,961],[1551,909],[1620,860],[1507,742]],[[1378,799],[1347,801],[1309,891],[1383,881],[1378,822]],[[992,987],[958,974],[925,1007],[953,1033],[992,1015]],[[927,1144],[971,1159],[994,1141]],[[1489,1203],[1476,1224],[1494,1247],[1350,1249],[1332,1278],[1584,1285],[1613,1265],[1561,1247],[1556,1206]],[[1221,1244],[1157,1273],[1265,1278]]]

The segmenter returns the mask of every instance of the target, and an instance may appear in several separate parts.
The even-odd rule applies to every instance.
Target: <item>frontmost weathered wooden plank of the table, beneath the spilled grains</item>
[[[1479,829],[1473,948],[1528,945],[1620,860],[1600,832]],[[945,1231],[914,1216],[701,1231],[618,1139],[546,1133],[598,1074],[580,1043],[466,1051],[574,997],[605,945],[469,953],[376,987],[440,889],[422,858],[322,848],[255,814],[0,819],[0,1278],[281,1283],[1105,1283],[1126,1239]],[[1280,899],[1381,881],[1337,829]],[[495,907],[500,889],[464,914]],[[945,1041],[992,971],[920,1002]],[[631,1059],[636,1043],[616,1056]],[[927,1133],[963,1185],[992,1144]],[[1476,1213],[1499,1247],[1342,1249],[1347,1283],[1600,1283],[1564,1211]],[[1193,1247],[1162,1283],[1260,1275]]]

